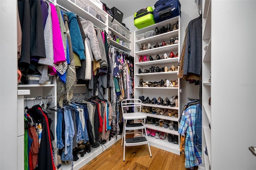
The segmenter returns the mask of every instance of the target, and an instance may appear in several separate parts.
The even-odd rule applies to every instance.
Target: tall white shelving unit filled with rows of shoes
[[[142,55],[146,55],[147,57],[149,57],[151,55],[151,57],[154,59],[156,57],[156,55],[160,55],[160,57],[162,55],[164,55],[164,53],[166,53],[167,55],[170,54],[170,52],[172,51],[174,54],[178,53],[178,51],[180,51],[180,45],[179,43],[175,43],[172,45],[165,45],[162,47],[157,47],[157,48],[152,48],[152,49],[146,49],[143,51],[140,51],[140,44],[145,44],[146,46],[148,45],[148,43],[150,43],[150,45],[153,47],[154,45],[156,45],[156,43],[158,43],[159,45],[162,44],[162,41],[165,42],[170,42],[171,38],[180,38],[180,30],[173,30],[170,32],[166,32],[163,34],[159,34],[159,35],[155,35],[149,38],[144,38],[142,40],[137,40],[136,36],[139,34],[144,34],[145,32],[148,31],[155,31],[155,28],[158,27],[158,29],[162,28],[163,26],[166,28],[168,24],[175,24],[175,23],[179,23],[180,25],[180,16],[171,18],[169,20],[165,20],[163,22],[159,22],[157,24],[154,24],[152,26],[148,26],[146,28],[142,28],[140,30],[137,30],[134,32],[134,96],[135,98],[139,98],[140,96],[144,96],[144,98],[146,99],[146,97],[149,97],[150,100],[152,98],[156,98],[158,99],[158,97],[160,96],[163,100],[168,97],[168,99],[170,100],[170,98],[174,95],[178,96],[178,106],[180,105],[181,101],[180,101],[180,80],[177,78],[177,74],[178,71],[170,71],[170,72],[155,72],[155,73],[138,73],[138,70],[141,69],[142,72],[144,72],[145,69],[149,69],[151,66],[155,66],[155,67],[168,67],[168,70],[170,69],[171,65],[173,64],[174,66],[177,66],[179,57],[175,57],[175,58],[168,58],[168,59],[160,59],[160,60],[154,60],[154,61],[144,61],[144,62],[139,62],[139,56]],[[180,40],[180,39],[179,39]],[[179,55],[178,55],[179,56]],[[139,81],[140,79],[143,79],[144,81],[161,81],[162,79],[178,79],[178,87],[138,87],[139,85]],[[162,105],[152,105],[152,104],[145,104],[143,103],[142,106],[148,106],[148,107],[156,107],[156,108],[165,108],[165,109],[174,109],[174,110],[178,110],[178,117],[180,116],[180,107],[170,107],[170,106],[162,106]],[[164,116],[164,115],[156,115],[156,114],[151,114],[151,113],[145,113],[147,115],[147,117],[153,117],[156,119],[164,119],[164,120],[169,120],[169,121],[175,121],[178,122],[178,117],[169,117],[169,116]],[[146,128],[151,128],[154,130],[158,130],[160,132],[165,132],[166,134],[174,134],[178,136],[178,139],[180,141],[180,135],[178,134],[178,131],[175,130],[170,130],[169,128],[164,128],[164,127],[159,127],[156,125],[146,125]],[[157,139],[154,138],[152,136],[149,136],[149,141],[150,141],[150,145],[161,148],[163,150],[167,150],[169,152],[173,152],[175,154],[180,155],[180,148],[179,148],[179,144],[173,144],[168,142],[168,139],[166,137],[166,140],[162,140],[162,139]]]

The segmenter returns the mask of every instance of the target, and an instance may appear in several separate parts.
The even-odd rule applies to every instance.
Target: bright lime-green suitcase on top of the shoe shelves
[[[151,6],[143,8],[134,14],[134,26],[141,29],[155,24],[153,8]]]

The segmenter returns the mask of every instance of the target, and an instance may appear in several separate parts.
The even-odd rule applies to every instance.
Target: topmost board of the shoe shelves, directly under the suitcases
[[[158,22],[158,23],[156,23],[156,24],[154,24],[154,25],[151,25],[151,26],[148,26],[148,27],[146,27],[146,28],[142,28],[142,29],[140,29],[140,30],[136,30],[135,31],[135,36],[137,36],[137,35],[139,35],[139,34],[143,34],[143,33],[145,33],[145,32],[148,32],[148,31],[152,31],[152,30],[156,30],[156,27],[158,28],[158,29],[160,29],[160,28],[162,28],[163,26],[166,28],[167,26],[168,26],[168,24],[176,24],[177,22],[178,22],[178,20],[179,20],[179,17],[180,16],[176,16],[176,17],[174,17],[174,18],[171,18],[171,19],[169,19],[169,20],[164,20],[164,21],[162,21],[162,22]],[[180,25],[180,24],[179,24]]]

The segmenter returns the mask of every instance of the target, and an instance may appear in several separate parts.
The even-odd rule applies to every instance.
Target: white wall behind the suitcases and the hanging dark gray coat
[[[180,49],[182,47],[188,23],[199,16],[198,8],[194,0],[180,0],[181,4],[181,23],[180,23]],[[154,6],[152,6],[154,9]],[[201,13],[201,11],[200,11]],[[134,16],[123,19],[123,23],[130,29],[130,32],[138,30],[134,26]],[[132,45],[134,47],[134,45]],[[182,80],[182,107],[187,103],[187,97],[199,99],[199,85],[189,84],[188,81]]]

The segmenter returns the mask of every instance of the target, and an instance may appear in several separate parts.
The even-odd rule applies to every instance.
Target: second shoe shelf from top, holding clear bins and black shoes
[[[171,38],[175,40],[175,37],[178,37],[178,34],[179,34],[179,30],[174,30],[174,31],[166,32],[156,36],[144,38],[142,40],[136,40],[135,43],[139,45],[140,43],[146,44],[146,45],[150,43],[150,45],[153,47],[154,45],[156,45],[156,42],[158,42],[158,44],[160,43],[162,44],[163,41],[170,42]]]

